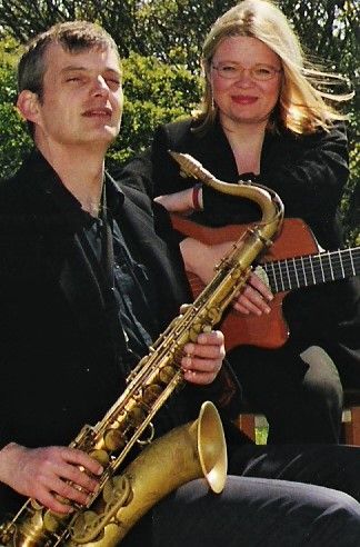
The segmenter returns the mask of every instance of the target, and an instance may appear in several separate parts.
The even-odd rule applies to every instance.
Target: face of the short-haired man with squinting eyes
[[[117,54],[111,49],[69,53],[51,44],[46,53],[42,100],[34,140],[107,149],[120,130],[123,96]]]

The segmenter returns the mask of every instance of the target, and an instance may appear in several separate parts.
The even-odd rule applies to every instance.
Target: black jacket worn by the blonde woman
[[[128,163],[119,179],[127,186],[144,188],[152,197],[191,188],[196,180],[180,176],[168,150],[193,156],[222,181],[247,179],[249,173],[238,173],[220,123],[216,122],[203,135],[193,132],[197,123],[187,119],[159,127],[151,148]],[[339,207],[348,175],[348,141],[342,123],[329,132],[309,136],[287,130],[267,132],[260,175],[254,178],[250,173],[280,196],[286,217],[306,221],[324,249],[343,245]],[[194,215],[194,219],[207,226],[247,223],[260,218],[254,203],[209,187],[203,187],[203,211]],[[300,346],[322,345],[336,362],[349,361],[360,367],[359,285],[359,279],[351,279],[291,292],[284,300],[291,340]]]

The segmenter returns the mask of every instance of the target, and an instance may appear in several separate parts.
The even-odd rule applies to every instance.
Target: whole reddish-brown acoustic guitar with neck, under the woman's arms
[[[171,221],[176,230],[206,245],[238,240],[248,229],[248,225],[209,228],[178,215],[172,215]],[[297,256],[293,256],[294,248]],[[220,327],[228,351],[241,345],[262,348],[282,346],[289,337],[289,327],[282,315],[282,300],[288,292],[359,275],[360,247],[319,252],[306,222],[301,219],[284,219],[281,233],[261,258],[256,272],[274,296],[269,304],[271,311],[258,317],[230,309]],[[204,285],[193,272],[188,271],[187,275],[196,298]]]

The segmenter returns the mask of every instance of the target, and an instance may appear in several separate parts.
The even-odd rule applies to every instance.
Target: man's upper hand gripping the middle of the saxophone
[[[220,330],[202,332],[196,344],[188,342],[184,348],[181,367],[184,379],[191,384],[211,384],[221,369],[226,355],[223,334]]]

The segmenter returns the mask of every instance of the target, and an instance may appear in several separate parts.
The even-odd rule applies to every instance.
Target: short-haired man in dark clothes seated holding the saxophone
[[[112,39],[84,22],[37,37],[20,61],[18,108],[34,151],[0,187],[0,506],[16,510],[32,497],[67,514],[67,500],[86,505],[102,473],[67,445],[102,418],[189,292],[166,211],[104,172],[122,111]],[[220,332],[186,345],[187,387],[160,410],[158,435],[217,399],[222,358]],[[187,526],[174,531],[182,517]],[[149,543],[149,534],[159,547],[231,547],[239,538],[351,547],[360,505],[326,488],[239,477],[216,497],[197,480],[124,545]]]

